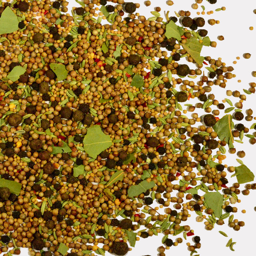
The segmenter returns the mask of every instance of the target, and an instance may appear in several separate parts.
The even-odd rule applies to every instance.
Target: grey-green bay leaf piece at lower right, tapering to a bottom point
[[[219,192],[208,192],[204,194],[204,200],[207,203],[208,207],[213,210],[215,217],[221,217],[222,205],[224,202],[223,195]]]

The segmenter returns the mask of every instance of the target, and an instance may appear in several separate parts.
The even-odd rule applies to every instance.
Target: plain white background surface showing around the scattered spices
[[[255,61],[256,61],[256,50],[255,50],[255,30],[249,30],[250,26],[255,26],[256,28],[256,14],[253,13],[253,10],[256,8],[255,1],[253,0],[218,0],[217,4],[211,5],[206,0],[203,0],[203,3],[199,5],[197,10],[192,10],[191,4],[195,3],[191,0],[173,0],[174,5],[168,6],[163,0],[151,0],[151,5],[149,7],[145,7],[143,4],[144,1],[137,0],[137,3],[140,3],[141,7],[138,12],[141,15],[146,17],[151,17],[153,15],[150,14],[150,11],[154,11],[154,7],[161,7],[161,16],[163,16],[163,11],[170,11],[169,16],[175,16],[174,11],[184,10],[191,11],[191,18],[198,17],[196,14],[197,11],[202,11],[200,5],[204,5],[206,7],[205,12],[215,10],[217,8],[221,8],[222,6],[226,7],[226,11],[215,12],[211,15],[200,15],[204,17],[204,19],[216,19],[220,20],[220,24],[216,24],[214,26],[206,24],[204,29],[208,30],[208,36],[211,41],[217,42],[217,48],[211,47],[203,47],[202,56],[211,56],[213,59],[218,59],[218,57],[222,58],[222,61],[227,64],[227,66],[232,65],[235,69],[233,71],[234,74],[237,75],[236,78],[233,78],[227,82],[227,86],[225,89],[219,88],[218,86],[213,86],[212,93],[216,95],[216,98],[219,102],[222,99],[227,98],[226,90],[239,90],[242,93],[242,89],[249,89],[250,82],[256,82],[256,78],[253,78],[251,72],[256,70]],[[72,6],[79,6],[75,1],[70,1],[68,8]],[[164,19],[165,20],[165,19]],[[225,40],[219,41],[217,39],[218,35],[223,35]],[[246,60],[242,57],[244,53],[251,53],[251,59]],[[239,56],[241,59],[237,60],[237,64],[233,65],[232,62],[236,60],[236,57]],[[192,68],[192,65],[190,65]],[[205,67],[205,65],[204,65]],[[204,69],[204,68],[203,68]],[[202,69],[202,70],[203,70]],[[205,69],[205,72],[207,70]],[[238,83],[237,80],[241,79],[242,82]],[[255,95],[246,95],[247,99],[243,103],[244,105],[244,113],[245,110],[251,108],[256,111],[255,108]],[[229,97],[229,99],[235,103],[238,101],[238,98]],[[226,104],[226,108],[227,108]],[[196,109],[197,113],[198,109]],[[203,112],[201,113],[203,114]],[[255,121],[255,120],[254,120]],[[243,123],[246,127],[250,127],[253,121],[247,122],[243,120]],[[249,131],[250,134],[253,133],[254,130]],[[242,159],[242,161],[255,172],[255,146],[256,144],[250,145],[248,143],[248,138],[244,137],[244,144],[234,143],[234,146],[238,150],[244,150],[246,156]],[[223,161],[223,164],[227,164],[229,166],[238,166],[239,164],[236,162],[236,154],[230,155],[227,154],[227,159]],[[228,174],[230,176],[230,174]],[[229,185],[233,182],[236,182],[236,178],[229,178]],[[240,186],[240,189],[244,189],[244,185]],[[226,256],[241,256],[242,254],[251,253],[251,255],[255,255],[255,234],[254,230],[256,228],[256,212],[254,211],[254,207],[256,206],[255,200],[255,191],[250,191],[249,196],[238,195],[239,199],[242,200],[241,203],[237,203],[236,206],[238,208],[238,212],[234,214],[234,219],[238,219],[239,221],[245,221],[245,226],[241,227],[240,231],[234,231],[230,227],[227,227],[227,219],[226,224],[223,226],[218,226],[215,224],[215,228],[211,231],[206,231],[204,229],[203,222],[197,223],[195,221],[196,215],[192,215],[191,218],[187,222],[184,222],[184,225],[190,225],[191,228],[195,231],[195,235],[201,237],[202,247],[198,249],[195,254],[200,254],[200,256],[215,256],[215,255],[226,255]],[[173,195],[175,196],[175,195]],[[246,214],[242,214],[241,210],[245,209]],[[224,212],[223,212],[224,213]],[[183,224],[183,223],[182,223]],[[218,233],[219,230],[222,230],[228,234],[229,237],[223,237]],[[178,237],[178,236],[177,236]],[[171,237],[173,240],[177,237]],[[180,234],[182,237],[182,234]],[[187,241],[183,239],[183,243],[178,245],[177,247],[172,246],[169,250],[166,250],[166,255],[189,255],[190,252],[187,250],[186,242],[191,241],[192,237],[188,237]],[[227,241],[233,238],[234,242],[237,242],[234,245],[235,251],[230,251],[229,248],[225,247]],[[132,248],[132,251],[128,253],[128,255],[135,256],[143,256],[143,255],[157,255],[157,248],[161,246],[162,234],[159,234],[158,237],[148,237],[147,239],[140,239],[140,241],[136,242],[135,248]],[[101,244],[99,244],[100,246]],[[27,249],[22,250],[22,256],[27,255]],[[106,256],[109,256],[109,253],[106,253]]]

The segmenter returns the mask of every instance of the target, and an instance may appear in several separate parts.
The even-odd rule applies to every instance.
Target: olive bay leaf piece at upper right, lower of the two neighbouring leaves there
[[[188,38],[186,44],[181,45],[197,64],[203,63],[204,57],[200,56],[203,45],[196,38]]]

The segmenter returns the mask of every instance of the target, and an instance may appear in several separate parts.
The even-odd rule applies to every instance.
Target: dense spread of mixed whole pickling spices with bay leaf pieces
[[[207,230],[245,225],[236,203],[256,189],[254,175],[241,159],[236,167],[225,159],[245,156],[235,148],[243,139],[256,142],[256,124],[245,122],[253,111],[242,112],[256,83],[245,94],[227,90],[234,104],[211,93],[235,75],[221,58],[201,56],[217,45],[204,25],[219,23],[203,18],[204,2],[192,4],[203,11],[191,17],[167,1],[161,17],[145,1],[154,10],[145,17],[124,0],[77,1],[72,15],[67,1],[1,1],[4,256],[20,248],[31,256],[130,255],[136,241],[158,233],[154,255],[192,236],[187,249],[196,256],[191,212]],[[232,251],[234,244],[227,240]]]

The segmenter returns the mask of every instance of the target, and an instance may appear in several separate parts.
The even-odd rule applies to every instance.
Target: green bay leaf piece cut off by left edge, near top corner
[[[0,34],[10,34],[19,29],[19,21],[12,9],[7,6],[0,18]],[[16,80],[15,80],[16,81]],[[14,82],[14,81],[13,81]]]

